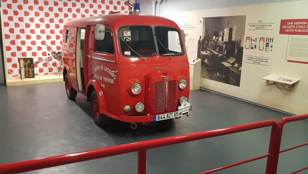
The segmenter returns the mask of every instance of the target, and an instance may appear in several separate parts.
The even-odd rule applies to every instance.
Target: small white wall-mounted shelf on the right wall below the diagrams
[[[270,74],[268,76],[265,76],[262,78],[263,80],[266,80],[266,85],[273,85],[277,83],[283,83],[285,84],[285,90],[287,89],[293,89],[294,88],[294,84],[296,82],[298,82],[300,79],[297,78],[292,78],[292,77],[285,77],[285,76],[277,76],[277,75],[273,75]],[[269,83],[269,81],[273,81],[273,83]],[[291,86],[289,86],[291,85]]]

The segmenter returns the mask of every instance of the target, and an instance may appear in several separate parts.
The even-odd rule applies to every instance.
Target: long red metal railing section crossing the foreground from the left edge
[[[51,157],[36,159],[36,160],[3,164],[3,165],[0,165],[0,173],[26,172],[26,171],[55,167],[55,166],[60,166],[60,165],[65,165],[65,164],[83,162],[83,161],[94,160],[94,159],[99,159],[99,158],[105,158],[108,156],[138,151],[138,173],[145,174],[146,173],[146,150],[147,149],[175,145],[179,143],[196,141],[196,140],[201,140],[204,138],[222,136],[222,135],[227,135],[227,134],[232,134],[232,133],[238,133],[238,132],[243,132],[243,131],[248,131],[248,130],[253,130],[253,129],[269,127],[269,126],[272,127],[272,132],[271,132],[271,139],[269,141],[268,154],[259,156],[251,160],[246,160],[243,162],[235,163],[232,165],[228,165],[225,167],[221,167],[218,169],[205,172],[205,173],[210,173],[210,172],[222,170],[224,168],[232,167],[235,165],[239,165],[239,164],[243,164],[243,163],[247,163],[253,160],[258,160],[258,159],[267,157],[266,173],[269,174],[271,173],[270,171],[273,170],[273,162],[274,162],[273,161],[274,160],[273,158],[274,148],[273,147],[275,147],[275,140],[276,140],[276,135],[277,135],[277,123],[275,120],[266,120],[266,121],[261,121],[257,123],[228,127],[228,128],[223,128],[223,129],[210,130],[210,131],[204,131],[204,132],[198,132],[198,133],[190,133],[186,135],[172,136],[172,137],[160,138],[157,140],[131,143],[131,144],[126,144],[126,145],[102,148],[102,149],[88,150],[88,151],[83,151],[83,152],[78,152],[78,153],[51,156]]]

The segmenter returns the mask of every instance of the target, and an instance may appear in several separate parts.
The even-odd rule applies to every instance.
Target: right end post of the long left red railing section
[[[271,154],[267,157],[265,174],[273,174],[274,160],[275,160],[275,148],[276,148],[276,138],[277,138],[277,124],[272,126],[271,137],[269,138],[268,153]]]

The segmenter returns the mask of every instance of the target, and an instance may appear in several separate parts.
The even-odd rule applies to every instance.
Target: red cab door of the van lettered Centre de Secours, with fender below
[[[95,26],[92,26],[95,33]],[[115,46],[115,36],[112,28],[105,25],[103,40],[95,39],[92,42],[92,79],[99,82],[103,91],[108,112],[120,115],[120,79]]]

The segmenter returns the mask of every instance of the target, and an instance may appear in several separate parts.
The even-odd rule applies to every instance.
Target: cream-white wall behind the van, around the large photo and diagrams
[[[139,2],[144,9],[151,9],[152,7],[149,0],[139,0]],[[189,4],[189,2],[194,2],[194,4]],[[285,112],[298,115],[308,113],[308,66],[307,64],[293,63],[286,60],[289,36],[279,33],[281,20],[308,19],[308,13],[306,12],[308,1],[167,0],[160,7],[161,16],[175,21],[181,29],[186,29],[187,33],[189,32],[190,45],[185,42],[186,47],[189,45],[187,47],[188,61],[197,57],[197,41],[199,36],[202,36],[203,18],[246,15],[244,38],[273,37],[275,38],[273,51],[244,49],[239,87],[205,78],[201,78],[200,86]],[[141,13],[151,14],[151,11],[141,9]],[[159,13],[157,14],[159,15]],[[273,24],[271,25],[272,28],[269,30],[249,28],[251,27],[249,24],[260,23],[259,21]],[[244,42],[243,39],[241,40]],[[249,57],[251,56],[247,55],[267,58],[268,62],[263,65],[249,63]],[[300,81],[291,90],[285,90],[284,85],[281,83],[266,86],[266,80],[262,80],[262,77],[269,74],[298,78]]]

